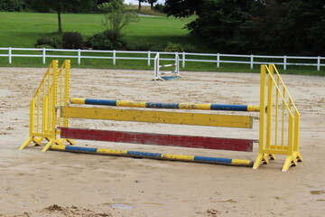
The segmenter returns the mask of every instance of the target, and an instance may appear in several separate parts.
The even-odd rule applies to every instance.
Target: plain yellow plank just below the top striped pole
[[[61,107],[60,117],[138,121],[213,127],[253,127],[253,118],[250,116],[181,113],[152,110]]]

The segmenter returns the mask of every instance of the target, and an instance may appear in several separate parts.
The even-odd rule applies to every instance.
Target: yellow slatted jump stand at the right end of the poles
[[[267,87],[267,90],[265,90]],[[274,64],[261,66],[259,149],[254,169],[274,155],[287,156],[283,171],[302,161],[299,152],[300,114]]]

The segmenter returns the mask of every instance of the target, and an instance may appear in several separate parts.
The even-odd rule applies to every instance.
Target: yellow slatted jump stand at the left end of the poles
[[[52,144],[63,144],[70,139],[58,139],[60,132],[56,127],[68,127],[69,119],[60,118],[57,108],[67,106],[70,98],[70,61],[64,61],[58,69],[58,61],[51,61],[41,84],[35,91],[30,104],[30,128],[29,137],[24,141],[19,149],[26,146],[42,146],[42,141],[46,139],[46,144],[42,151],[46,151]]]

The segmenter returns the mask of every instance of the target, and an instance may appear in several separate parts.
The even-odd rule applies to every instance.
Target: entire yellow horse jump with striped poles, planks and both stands
[[[268,72],[267,80],[266,72]],[[265,91],[266,84],[267,91]],[[257,140],[190,137],[183,135],[148,134],[69,127],[70,118],[90,118],[213,127],[252,128],[253,117],[251,116],[158,111],[158,109],[236,110],[259,112],[259,150],[253,168],[256,169],[261,164],[268,164],[269,158],[274,159],[274,155],[276,154],[287,156],[283,165],[283,171],[286,171],[291,165],[297,165],[298,161],[302,161],[302,156],[299,153],[300,115],[285,86],[283,86],[283,91],[281,91],[281,85],[283,85],[283,80],[279,76],[274,65],[270,65],[269,67],[261,67],[261,100],[259,106],[70,99],[70,61],[64,61],[60,70],[58,69],[58,61],[52,61],[42,83],[32,98],[30,105],[30,137],[20,146],[20,149],[29,146],[31,143],[42,146],[42,140],[46,139],[48,142],[42,151],[51,149],[113,156],[149,157],[167,160],[250,166],[253,163],[249,160],[63,146],[65,142],[73,145],[75,143],[73,139],[88,139],[144,145],[181,146],[251,152],[253,150],[253,143]],[[274,90],[276,90],[275,95],[273,94]],[[109,106],[110,108],[70,106],[73,104],[101,105]],[[120,107],[141,108],[141,110],[116,109]],[[147,108],[150,110],[145,110]],[[277,117],[282,117],[282,119]],[[284,119],[284,117],[288,118]],[[286,124],[284,124],[284,120],[287,121],[285,122]],[[285,127],[286,125],[287,127]],[[280,133],[277,132],[279,130]],[[284,139],[284,135],[287,136],[287,139]],[[287,141],[285,142],[284,140]]]

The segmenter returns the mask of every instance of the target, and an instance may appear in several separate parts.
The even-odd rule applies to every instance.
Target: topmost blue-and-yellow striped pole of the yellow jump
[[[224,105],[224,104],[198,104],[198,103],[172,103],[172,102],[144,102],[111,99],[81,99],[71,98],[71,104],[88,104],[98,106],[151,108],[151,109],[198,109],[198,110],[231,110],[231,111],[259,111],[259,106]]]

